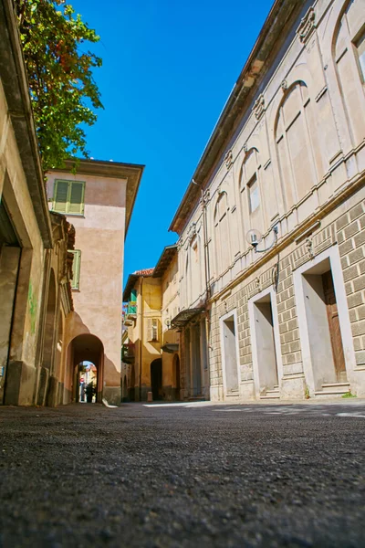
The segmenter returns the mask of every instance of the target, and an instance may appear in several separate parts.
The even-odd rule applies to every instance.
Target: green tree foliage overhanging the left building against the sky
[[[101,59],[84,50],[95,30],[65,0],[15,0],[43,170],[70,155],[88,157],[83,124],[102,108],[92,70]]]

